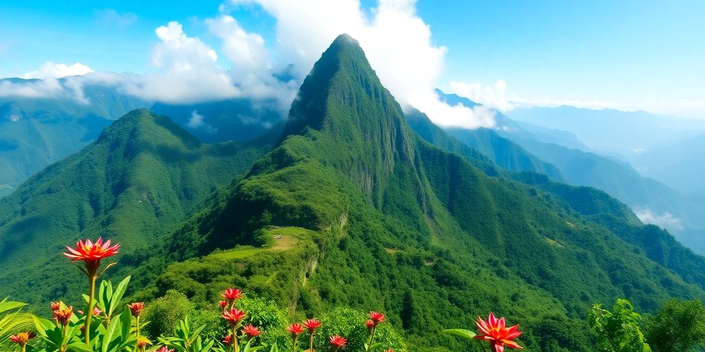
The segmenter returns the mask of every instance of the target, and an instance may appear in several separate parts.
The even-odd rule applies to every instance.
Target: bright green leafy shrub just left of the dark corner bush
[[[651,348],[639,329],[640,318],[632,303],[618,299],[611,312],[594,305],[587,315],[587,325],[597,334],[599,352],[649,352]]]

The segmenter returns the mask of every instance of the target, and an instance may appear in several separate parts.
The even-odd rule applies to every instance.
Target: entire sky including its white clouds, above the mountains
[[[0,85],[0,96],[82,99],[81,84],[102,82],[164,101],[275,98],[286,110],[321,52],[348,32],[400,103],[441,125],[494,122],[482,108],[446,106],[434,87],[503,111],[573,105],[705,119],[704,13],[699,0],[0,0],[0,77],[47,80]],[[285,70],[295,80],[272,78]],[[85,78],[51,81],[64,75]]]

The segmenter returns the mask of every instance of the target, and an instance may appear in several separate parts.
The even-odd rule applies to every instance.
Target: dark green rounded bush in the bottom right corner
[[[705,347],[705,307],[700,300],[670,299],[654,315],[645,315],[642,325],[654,352]]]

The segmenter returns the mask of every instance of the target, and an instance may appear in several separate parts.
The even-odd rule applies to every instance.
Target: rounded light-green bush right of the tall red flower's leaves
[[[193,306],[186,296],[178,291],[166,291],[166,295],[145,305],[143,319],[144,332],[152,338],[174,333],[179,322],[193,311]]]

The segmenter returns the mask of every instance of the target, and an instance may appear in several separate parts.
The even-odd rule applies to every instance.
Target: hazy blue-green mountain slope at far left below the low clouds
[[[0,84],[36,81],[7,78]],[[92,142],[121,115],[150,104],[114,87],[87,85],[82,89],[80,100],[65,96],[0,99],[0,196]]]

